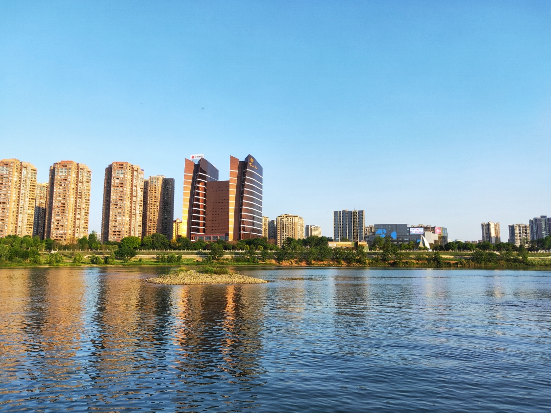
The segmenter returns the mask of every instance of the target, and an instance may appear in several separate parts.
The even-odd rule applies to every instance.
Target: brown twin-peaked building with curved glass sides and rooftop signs
[[[182,220],[191,240],[244,240],[262,237],[262,166],[251,156],[230,156],[230,177],[218,181],[218,169],[202,155],[186,159]]]

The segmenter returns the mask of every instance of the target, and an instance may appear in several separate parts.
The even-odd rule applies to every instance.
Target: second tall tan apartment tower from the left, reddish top
[[[60,161],[50,166],[45,237],[75,242],[88,236],[92,171],[84,164]]]

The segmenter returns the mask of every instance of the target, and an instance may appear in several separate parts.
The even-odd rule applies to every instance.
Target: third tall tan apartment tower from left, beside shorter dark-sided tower
[[[101,241],[142,236],[143,169],[128,162],[105,168]]]

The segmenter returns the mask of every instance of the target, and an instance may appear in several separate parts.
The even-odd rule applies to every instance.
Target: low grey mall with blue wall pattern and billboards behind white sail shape
[[[409,241],[420,243],[422,237],[433,246],[435,244],[444,245],[448,242],[446,227],[423,224],[375,224],[372,227],[372,232],[370,231],[365,238],[369,243],[375,242],[377,237],[385,238],[394,244],[403,244]]]

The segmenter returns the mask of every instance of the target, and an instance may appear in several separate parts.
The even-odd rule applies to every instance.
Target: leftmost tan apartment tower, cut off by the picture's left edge
[[[19,159],[0,161],[0,237],[33,236],[36,167]]]

